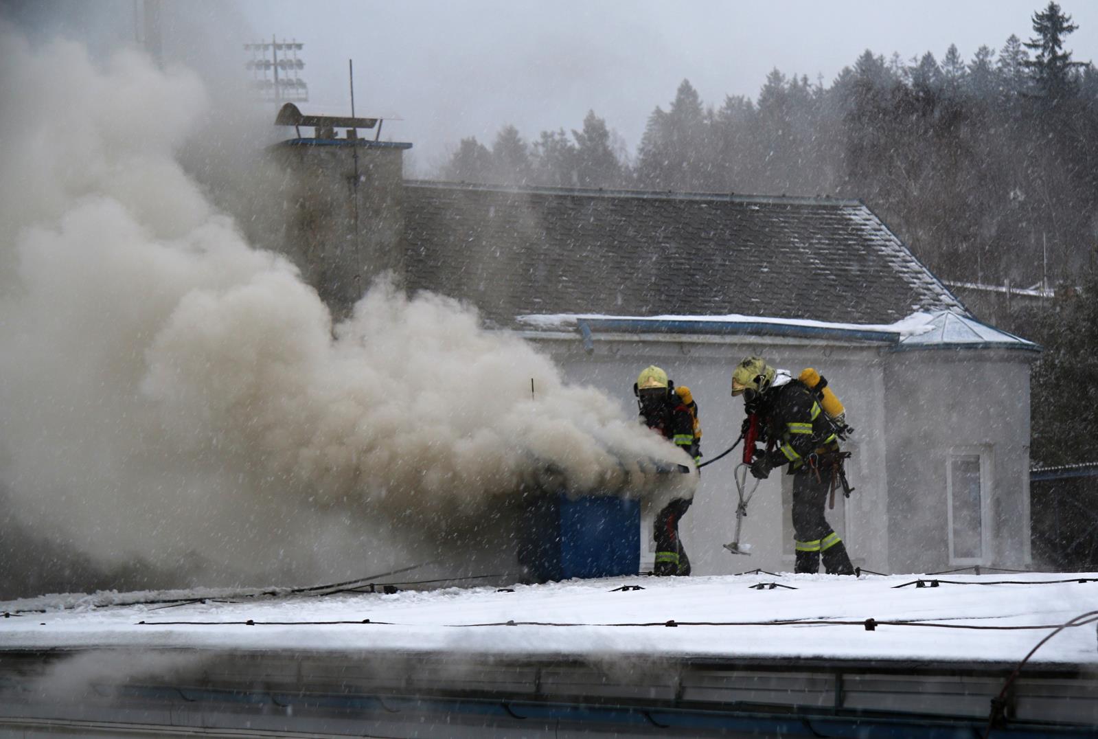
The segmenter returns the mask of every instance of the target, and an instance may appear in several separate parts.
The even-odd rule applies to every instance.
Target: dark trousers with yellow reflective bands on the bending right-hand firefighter
[[[820,556],[828,574],[854,574],[847,547],[824,517],[831,492],[831,475],[814,470],[793,475],[793,534],[796,545],[795,572],[819,571]]]

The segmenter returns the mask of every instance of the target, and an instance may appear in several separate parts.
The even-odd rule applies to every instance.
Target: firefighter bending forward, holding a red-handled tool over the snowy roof
[[[748,357],[732,371],[732,395],[743,395],[749,418],[758,414],[760,440],[766,443],[755,452],[751,474],[764,480],[772,469],[788,464],[793,475],[794,571],[817,572],[822,557],[829,574],[854,574],[847,547],[824,516],[842,457],[838,429],[813,391],[761,357]]]

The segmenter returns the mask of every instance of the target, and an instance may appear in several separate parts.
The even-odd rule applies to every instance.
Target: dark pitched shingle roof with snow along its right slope
[[[408,287],[519,314],[964,311],[859,201],[406,181]]]

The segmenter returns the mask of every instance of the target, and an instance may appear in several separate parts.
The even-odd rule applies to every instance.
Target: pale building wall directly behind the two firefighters
[[[815,367],[832,384],[847,405],[848,421],[856,429],[855,455],[848,471],[856,488],[848,505],[845,520],[841,502],[828,518],[839,530],[845,530],[847,546],[855,566],[886,572],[887,494],[885,464],[884,365],[881,350],[847,347],[822,341],[760,340],[714,337],[660,337],[638,340],[635,337],[596,336],[594,351],[583,350],[581,340],[539,339],[563,368],[571,382],[590,384],[617,399],[629,414],[636,414],[632,383],[648,365],[668,371],[676,384],[691,388],[698,403],[702,422],[703,461],[727,449],[740,433],[743,403],[730,396],[731,371],[744,356],[760,354],[775,367],[794,374],[805,367]],[[752,556],[733,556],[722,548],[732,539],[736,526],[737,494],[732,472],[742,459],[740,448],[702,471],[702,481],[694,504],[684,516],[680,533],[695,574],[728,574],[762,568],[773,572],[793,569],[793,559],[783,555],[788,549],[783,535],[788,506],[782,504],[782,474],[776,471],[763,481],[751,502],[743,522],[741,542],[752,546]],[[748,478],[749,484],[753,481]],[[787,484],[787,483],[786,483]],[[841,492],[838,493],[841,499]],[[788,523],[785,529],[788,530]],[[642,567],[651,564],[652,555],[643,534]]]

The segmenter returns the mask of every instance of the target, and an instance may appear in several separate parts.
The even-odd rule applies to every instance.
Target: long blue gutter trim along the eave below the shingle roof
[[[651,318],[580,318],[578,328],[587,339],[592,328],[606,332],[651,333],[651,334],[709,334],[716,336],[784,336],[789,338],[848,339],[872,341],[875,344],[895,344],[898,340],[894,332],[870,331],[862,328],[832,328],[828,326],[799,326],[786,323],[766,323],[761,321],[729,322],[691,321],[671,318],[666,321]]]

